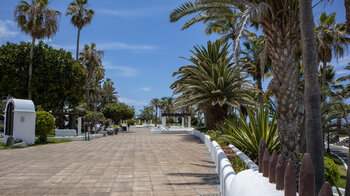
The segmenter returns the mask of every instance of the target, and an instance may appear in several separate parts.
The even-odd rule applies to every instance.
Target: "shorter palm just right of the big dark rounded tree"
[[[80,53],[80,61],[85,65],[88,72],[86,110],[89,110],[90,86],[94,77],[95,69],[102,66],[103,55],[103,51],[96,50],[95,43],[91,43],[91,46],[85,45],[83,51]]]

